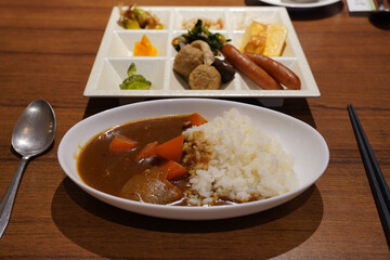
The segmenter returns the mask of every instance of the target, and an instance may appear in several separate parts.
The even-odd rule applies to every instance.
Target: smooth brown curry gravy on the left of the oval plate
[[[101,132],[82,147],[77,160],[79,176],[89,186],[119,196],[122,186],[132,176],[161,164],[161,159],[158,158],[136,162],[138,152],[148,143],[157,141],[161,144],[180,135],[183,123],[190,120],[188,117],[190,115],[178,115],[151,118]],[[109,153],[109,143],[117,134],[136,141],[136,147],[126,152]],[[174,184],[183,190],[186,182],[187,180],[177,181]]]

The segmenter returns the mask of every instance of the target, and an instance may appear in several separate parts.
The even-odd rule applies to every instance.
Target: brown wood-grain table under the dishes
[[[139,5],[253,5],[256,1],[145,0]],[[48,100],[54,147],[23,178],[0,259],[389,259],[389,248],[347,113],[359,113],[390,181],[390,32],[351,16],[344,2],[290,16],[321,98],[286,100],[282,113],[323,134],[330,161],[306,193],[277,208],[221,221],[155,219],[107,206],[78,188],[56,151],[87,116],[118,106],[82,96],[116,1],[0,3],[0,196],[18,164],[12,129],[25,106]],[[240,100],[256,103],[256,100]]]

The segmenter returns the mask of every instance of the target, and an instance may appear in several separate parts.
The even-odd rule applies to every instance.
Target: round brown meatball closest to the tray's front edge
[[[188,82],[193,90],[217,90],[221,87],[221,75],[213,66],[202,64],[190,74]]]

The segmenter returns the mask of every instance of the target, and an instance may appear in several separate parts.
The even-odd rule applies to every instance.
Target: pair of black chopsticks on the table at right
[[[368,143],[366,134],[364,133],[353,105],[348,105],[347,107],[388,247],[390,248],[390,190],[386,183],[385,177],[380,170],[378,161],[375,158],[374,152]]]

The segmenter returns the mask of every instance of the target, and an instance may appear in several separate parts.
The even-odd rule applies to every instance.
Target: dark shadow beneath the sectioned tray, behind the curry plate
[[[83,119],[90,116],[93,116],[98,113],[104,112],[106,109],[110,109],[114,107],[118,107],[120,105],[133,104],[143,101],[152,101],[152,100],[161,100],[161,99],[89,99],[87,108],[84,110]],[[256,106],[264,106],[260,100],[250,99],[250,98],[240,98],[240,99],[225,99],[229,101],[235,101],[246,104],[251,104]],[[270,107],[273,110],[281,112],[283,114],[295,117],[299,120],[307,122],[308,125],[315,128],[315,121],[311,114],[308,101],[306,99],[285,99],[282,106],[278,107]],[[180,114],[178,112],[178,114]]]

